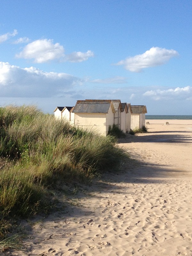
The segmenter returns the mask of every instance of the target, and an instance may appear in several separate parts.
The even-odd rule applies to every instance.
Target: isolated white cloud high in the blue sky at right
[[[141,72],[143,68],[156,67],[165,64],[171,58],[178,56],[175,50],[152,47],[143,54],[121,60],[116,65],[124,65],[131,72]]]

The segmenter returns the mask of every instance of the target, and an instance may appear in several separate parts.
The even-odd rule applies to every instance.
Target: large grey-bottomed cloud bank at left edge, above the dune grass
[[[83,79],[66,73],[44,72],[34,67],[20,68],[0,62],[1,97],[61,96],[83,82]]]

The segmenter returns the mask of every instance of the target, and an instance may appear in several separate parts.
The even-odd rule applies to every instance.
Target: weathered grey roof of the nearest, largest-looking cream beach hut
[[[108,113],[111,104],[109,100],[77,100],[72,113]]]

